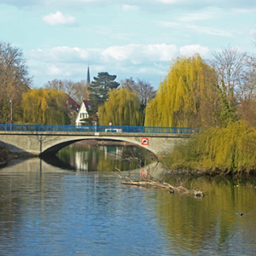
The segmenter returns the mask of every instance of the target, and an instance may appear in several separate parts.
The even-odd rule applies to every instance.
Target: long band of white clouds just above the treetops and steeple
[[[34,49],[26,55],[35,75],[36,85],[42,86],[52,79],[85,79],[90,63],[91,75],[107,71],[118,75],[118,80],[133,77],[148,80],[155,88],[164,79],[173,58],[195,53],[205,57],[207,47],[199,44],[178,48],[175,44],[126,44],[106,49],[81,49],[67,46],[52,49]],[[39,81],[44,82],[39,82]]]

